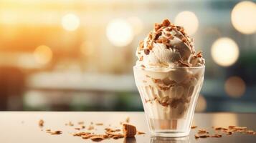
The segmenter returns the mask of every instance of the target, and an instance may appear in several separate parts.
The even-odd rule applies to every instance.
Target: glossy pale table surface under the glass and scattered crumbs
[[[120,128],[120,122],[124,122],[130,117],[130,123],[136,125],[137,129],[146,134],[136,135],[136,139],[105,139],[102,142],[256,142],[256,135],[234,134],[230,137],[194,139],[196,130],[192,129],[189,137],[183,139],[169,139],[168,141],[160,141],[162,139],[154,139],[148,133],[148,127],[143,112],[0,112],[0,143],[27,143],[27,142],[74,142],[84,143],[92,142],[90,139],[82,139],[81,137],[73,137],[72,133],[82,132],[74,128],[79,127],[77,122],[85,122],[88,127],[90,122],[104,123],[103,126],[95,126],[95,133],[103,133],[104,128],[111,124],[111,128]],[[44,120],[44,127],[38,125],[39,119]],[[65,123],[72,122],[74,127],[65,126]],[[202,128],[210,128],[212,126],[246,126],[256,130],[256,114],[234,114],[234,113],[212,113],[212,114],[195,114],[194,124]],[[43,129],[43,131],[42,131]],[[45,129],[60,129],[63,134],[50,135]]]

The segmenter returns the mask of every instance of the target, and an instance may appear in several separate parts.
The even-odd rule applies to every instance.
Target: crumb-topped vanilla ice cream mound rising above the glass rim
[[[146,39],[140,42],[136,66],[146,68],[204,66],[202,51],[196,54],[193,39],[184,28],[171,24],[168,19],[155,24]]]

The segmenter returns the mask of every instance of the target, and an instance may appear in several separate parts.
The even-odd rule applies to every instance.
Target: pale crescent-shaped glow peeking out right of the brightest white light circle
[[[143,21],[136,16],[129,17],[127,21],[131,24],[134,34],[140,34],[143,31]]]

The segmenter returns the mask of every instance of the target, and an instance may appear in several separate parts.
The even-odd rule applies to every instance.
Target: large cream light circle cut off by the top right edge
[[[235,29],[242,34],[256,31],[256,4],[252,1],[241,1],[231,12],[231,21]]]

